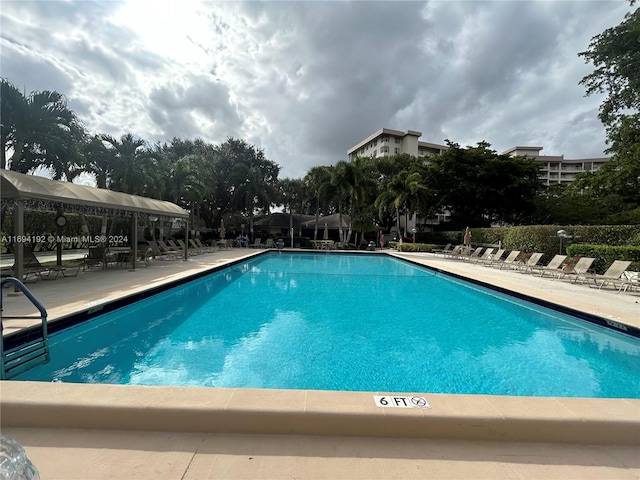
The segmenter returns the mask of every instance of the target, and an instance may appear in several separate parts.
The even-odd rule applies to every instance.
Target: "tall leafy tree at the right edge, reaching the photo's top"
[[[573,188],[593,201],[614,193],[635,207],[640,205],[639,39],[640,9],[636,9],[616,27],[593,37],[589,48],[578,54],[595,67],[580,82],[586,95],[605,94],[598,116],[607,129],[607,153],[613,155],[598,172],[579,175],[574,182]]]

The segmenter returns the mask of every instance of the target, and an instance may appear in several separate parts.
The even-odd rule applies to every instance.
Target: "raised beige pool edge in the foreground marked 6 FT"
[[[0,427],[640,445],[640,400],[0,382]],[[425,398],[381,408],[374,395]]]

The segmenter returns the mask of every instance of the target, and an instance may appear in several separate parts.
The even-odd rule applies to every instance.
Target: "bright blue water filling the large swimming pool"
[[[640,398],[639,339],[383,255],[262,255],[50,340],[18,379]]]

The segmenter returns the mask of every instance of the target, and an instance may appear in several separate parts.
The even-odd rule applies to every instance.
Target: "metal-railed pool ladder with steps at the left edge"
[[[0,365],[0,380],[8,380],[21,374],[41,363],[47,363],[49,361],[49,344],[47,342],[47,311],[42,304],[33,296],[24,284],[17,278],[8,277],[2,279],[0,282],[1,289],[4,288],[6,283],[14,284],[25,297],[27,297],[31,303],[38,309],[40,316],[22,315],[15,317],[0,316],[0,357],[2,357],[2,364]],[[2,311],[2,295],[0,295],[0,312]],[[5,350],[4,347],[4,326],[2,321],[4,319],[11,320],[33,320],[40,318],[41,328],[40,334],[35,338],[30,338],[27,342],[21,343],[15,347],[11,347]]]

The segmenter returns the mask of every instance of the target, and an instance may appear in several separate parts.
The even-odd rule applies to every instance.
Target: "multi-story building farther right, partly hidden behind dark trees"
[[[595,172],[609,158],[579,158],[568,159],[564,155],[540,155],[542,147],[512,147],[503,152],[511,156],[528,156],[541,164],[540,179],[545,185],[566,185],[573,182],[576,174]]]

